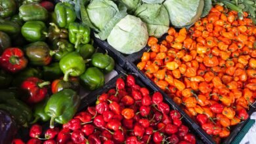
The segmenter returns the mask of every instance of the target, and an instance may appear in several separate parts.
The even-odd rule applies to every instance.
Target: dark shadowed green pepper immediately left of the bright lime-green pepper
[[[58,62],[43,66],[43,79],[45,81],[53,81],[63,75]]]

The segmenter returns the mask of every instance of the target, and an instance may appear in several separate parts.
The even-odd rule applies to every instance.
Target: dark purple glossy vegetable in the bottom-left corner
[[[0,110],[0,126],[0,143],[12,143],[18,128],[7,111]]]

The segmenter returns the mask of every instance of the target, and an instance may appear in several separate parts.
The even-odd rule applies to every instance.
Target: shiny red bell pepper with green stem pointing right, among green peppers
[[[25,100],[28,103],[38,103],[47,96],[47,88],[45,86],[51,84],[49,81],[43,81],[37,77],[29,77],[22,82],[21,89],[28,96]]]

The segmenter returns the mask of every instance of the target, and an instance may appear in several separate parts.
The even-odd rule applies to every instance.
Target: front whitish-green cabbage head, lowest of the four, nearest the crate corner
[[[136,16],[127,15],[110,32],[108,43],[123,54],[139,52],[148,41],[146,24]]]

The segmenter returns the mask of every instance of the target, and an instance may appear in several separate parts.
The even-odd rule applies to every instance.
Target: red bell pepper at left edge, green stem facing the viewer
[[[17,73],[24,69],[28,60],[20,48],[7,48],[0,57],[0,67],[5,71]]]

